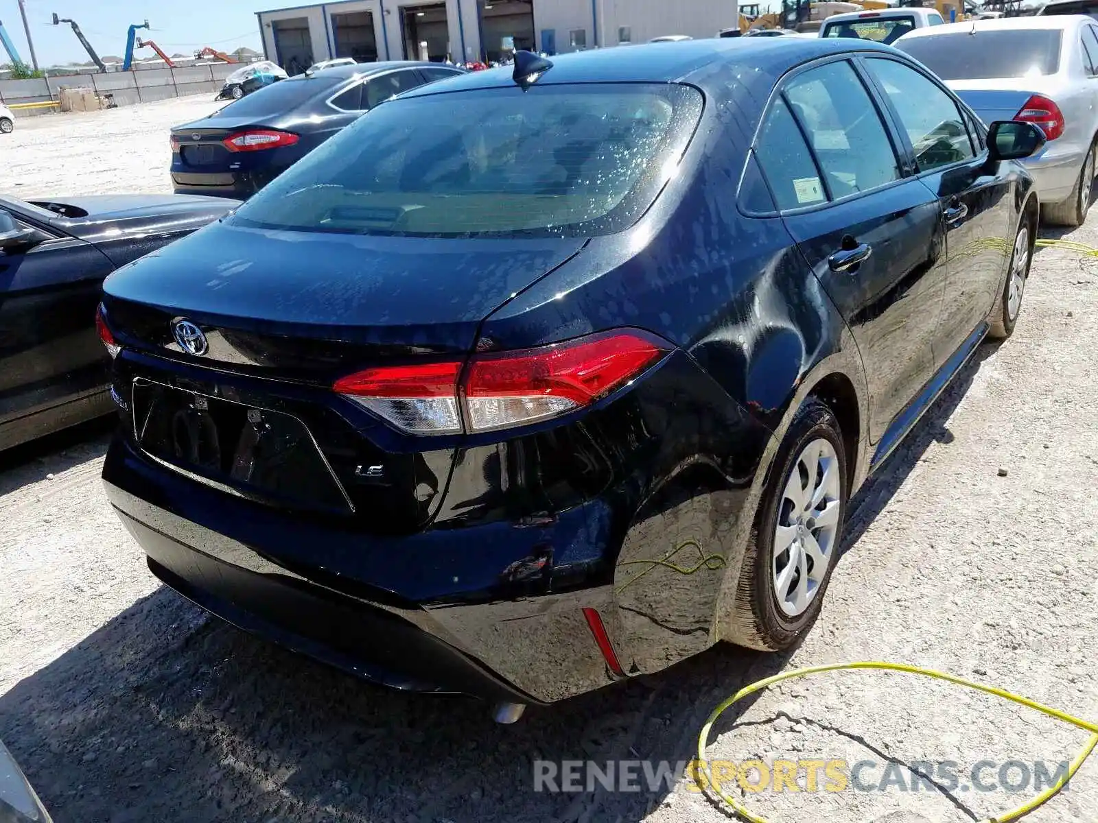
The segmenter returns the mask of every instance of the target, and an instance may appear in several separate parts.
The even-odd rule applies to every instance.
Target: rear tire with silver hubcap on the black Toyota
[[[817,469],[809,470],[805,454],[817,448],[821,450]],[[805,492],[807,503],[798,512],[793,498],[799,491]],[[776,652],[792,646],[813,627],[839,559],[847,491],[839,422],[825,403],[809,397],[774,458],[748,540],[726,640]],[[820,503],[814,507],[817,497]]]

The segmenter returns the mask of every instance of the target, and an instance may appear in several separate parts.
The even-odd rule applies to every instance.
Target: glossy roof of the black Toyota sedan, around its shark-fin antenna
[[[691,82],[715,65],[743,66],[783,72],[798,63],[845,52],[896,54],[888,46],[849,37],[713,37],[677,43],[642,43],[629,48],[597,48],[551,57],[553,67],[538,81],[542,86],[585,82]],[[469,89],[513,86],[513,68],[472,71],[421,86],[402,99]]]

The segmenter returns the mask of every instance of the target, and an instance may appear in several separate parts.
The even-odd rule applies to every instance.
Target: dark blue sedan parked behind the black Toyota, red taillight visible
[[[363,63],[291,77],[172,128],[172,188],[180,194],[248,198],[362,112],[459,74],[438,63]]]

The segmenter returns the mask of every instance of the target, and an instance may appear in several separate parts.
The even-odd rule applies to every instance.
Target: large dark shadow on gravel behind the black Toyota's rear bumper
[[[670,787],[535,792],[534,760],[674,768],[717,702],[786,661],[718,647],[500,726],[485,703],[362,684],[160,588],[0,697],[0,739],[57,823],[637,821]]]

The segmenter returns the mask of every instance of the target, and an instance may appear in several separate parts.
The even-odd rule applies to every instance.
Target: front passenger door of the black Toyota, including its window
[[[949,279],[934,332],[934,362],[943,365],[987,319],[1010,259],[1010,184],[989,165],[979,135],[970,134],[953,95],[907,63],[865,57],[915,156],[919,180],[938,199],[945,225]]]

